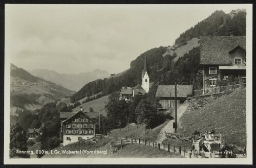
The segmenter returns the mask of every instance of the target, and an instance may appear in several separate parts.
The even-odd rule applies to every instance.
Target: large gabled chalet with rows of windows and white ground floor
[[[82,109],[78,112],[60,112],[60,138],[63,140],[63,146],[95,136],[96,122],[88,114],[90,112],[83,112]]]

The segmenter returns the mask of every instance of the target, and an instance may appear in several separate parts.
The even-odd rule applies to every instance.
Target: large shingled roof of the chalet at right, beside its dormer
[[[200,64],[231,64],[229,52],[246,49],[245,36],[207,36],[200,40]]]

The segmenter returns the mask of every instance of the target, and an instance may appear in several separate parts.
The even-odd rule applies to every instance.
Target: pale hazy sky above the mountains
[[[117,74],[147,50],[234,5],[6,5],[5,57],[32,70]]]

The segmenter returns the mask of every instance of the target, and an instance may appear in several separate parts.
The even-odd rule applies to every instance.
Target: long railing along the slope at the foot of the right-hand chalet
[[[246,88],[246,83],[237,84],[237,85],[228,85],[228,86],[220,86],[220,87],[212,87],[208,89],[201,89],[201,90],[193,90],[193,97],[197,97],[200,95],[207,95],[207,94],[217,94],[217,93],[224,93],[227,91],[234,91],[237,89]]]

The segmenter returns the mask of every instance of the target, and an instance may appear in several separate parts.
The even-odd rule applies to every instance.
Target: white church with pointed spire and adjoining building
[[[123,86],[119,92],[119,100],[132,100],[135,95],[144,95],[148,91],[150,91],[150,87],[152,86],[153,82],[150,83],[150,77],[148,76],[147,70],[147,61],[145,57],[144,68],[142,70],[142,85],[138,84],[135,87],[126,87]]]

